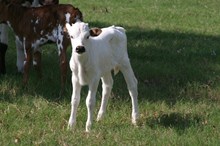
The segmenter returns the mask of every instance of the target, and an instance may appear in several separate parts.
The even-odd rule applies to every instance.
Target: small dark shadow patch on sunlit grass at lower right
[[[155,115],[146,119],[147,125],[151,128],[164,127],[176,130],[183,134],[190,127],[199,126],[202,123],[201,116],[192,114],[170,113]]]

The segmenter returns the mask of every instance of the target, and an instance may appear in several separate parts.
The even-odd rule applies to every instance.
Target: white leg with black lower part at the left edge
[[[6,73],[5,54],[8,49],[8,28],[5,24],[0,24],[0,74]]]

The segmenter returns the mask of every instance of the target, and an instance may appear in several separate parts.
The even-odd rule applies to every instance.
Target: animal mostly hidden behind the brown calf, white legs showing
[[[36,6],[42,6],[42,5],[52,5],[52,4],[58,4],[58,0],[11,0],[13,3],[20,4],[22,6],[26,7],[36,7]],[[18,42],[19,40],[16,40]],[[24,54],[22,46],[17,44],[17,67],[18,71],[22,72],[23,69],[23,62],[24,62]],[[8,31],[7,31],[7,25],[0,24],[0,74],[6,73],[6,67],[5,67],[5,54],[8,48]],[[39,49],[38,49],[39,50]]]

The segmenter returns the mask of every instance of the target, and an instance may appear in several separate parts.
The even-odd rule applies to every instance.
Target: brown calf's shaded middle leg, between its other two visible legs
[[[41,72],[41,51],[40,51],[40,49],[37,49],[34,51],[33,66],[36,69],[38,76],[41,78],[42,72]]]

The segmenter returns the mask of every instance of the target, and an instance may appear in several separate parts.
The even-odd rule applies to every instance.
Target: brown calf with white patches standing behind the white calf
[[[16,39],[24,49],[23,82],[25,84],[28,81],[33,58],[32,48],[37,52],[36,49],[40,45],[52,41],[57,44],[60,56],[61,89],[63,89],[67,74],[66,49],[70,44],[65,32],[65,24],[75,23],[76,18],[82,20],[82,13],[78,8],[68,4],[27,8],[0,0],[0,23],[5,22],[13,29]],[[35,64],[40,66],[39,53],[34,56],[36,56]]]

